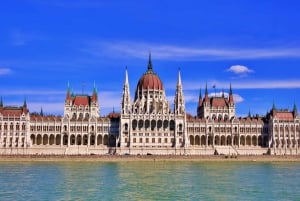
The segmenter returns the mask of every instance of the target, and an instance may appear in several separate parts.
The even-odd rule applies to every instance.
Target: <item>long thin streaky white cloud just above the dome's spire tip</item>
[[[172,60],[218,60],[257,58],[299,58],[300,48],[202,48],[156,44],[137,41],[90,41],[84,51],[97,56],[145,58],[148,51],[157,59]]]

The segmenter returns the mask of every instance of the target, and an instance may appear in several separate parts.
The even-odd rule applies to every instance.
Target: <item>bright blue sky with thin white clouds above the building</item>
[[[173,102],[181,69],[187,111],[199,90],[228,92],[238,116],[300,107],[298,1],[20,0],[0,7],[0,96],[5,105],[63,114],[74,93],[99,91],[100,112],[120,109],[125,67],[131,95],[153,68]],[[82,83],[84,84],[84,87]]]

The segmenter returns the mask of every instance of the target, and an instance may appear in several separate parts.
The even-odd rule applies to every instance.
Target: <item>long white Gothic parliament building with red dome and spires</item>
[[[174,107],[151,55],[131,100],[127,69],[119,113],[100,116],[98,92],[73,94],[68,86],[64,115],[30,113],[0,102],[2,155],[296,155],[300,154],[297,107],[275,105],[266,116],[237,117],[233,89],[228,96],[200,92],[196,116],[185,110],[178,71]],[[196,108],[196,106],[195,106]]]

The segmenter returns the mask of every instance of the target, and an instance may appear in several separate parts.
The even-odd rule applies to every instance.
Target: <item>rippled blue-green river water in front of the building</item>
[[[1,162],[0,200],[300,200],[299,163]]]

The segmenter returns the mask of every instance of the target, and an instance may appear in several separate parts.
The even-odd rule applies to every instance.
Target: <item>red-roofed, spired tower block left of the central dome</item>
[[[70,92],[68,84],[64,106],[64,116],[71,120],[89,120],[90,117],[99,117],[98,91],[94,84],[93,94],[76,94]]]

